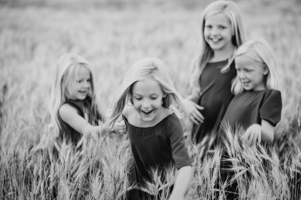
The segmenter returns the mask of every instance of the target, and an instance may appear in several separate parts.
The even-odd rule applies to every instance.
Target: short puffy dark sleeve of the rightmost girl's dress
[[[259,118],[268,121],[272,126],[276,126],[281,119],[281,92],[272,90],[263,97],[262,106],[259,109]]]

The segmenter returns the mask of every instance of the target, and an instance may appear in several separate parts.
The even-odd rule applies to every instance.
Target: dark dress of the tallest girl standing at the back
[[[197,144],[201,143],[215,126],[217,127],[218,117],[225,112],[225,109],[222,109],[226,108],[226,106],[223,107],[223,103],[232,97],[231,82],[236,76],[236,69],[233,61],[228,72],[221,73],[222,67],[227,64],[228,60],[207,63],[200,76],[201,97],[198,105],[204,107],[200,110],[204,116],[204,122],[200,125],[194,124],[191,133]]]

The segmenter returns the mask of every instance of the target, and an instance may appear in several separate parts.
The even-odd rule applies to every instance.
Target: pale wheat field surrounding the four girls
[[[176,89],[187,95],[190,65],[200,35],[200,17],[211,1],[197,0],[0,0],[0,197],[1,199],[124,199],[133,186],[126,135],[85,140],[81,150],[62,143],[53,152],[48,99],[55,64],[75,53],[92,65],[96,93],[109,107],[123,77],[143,57],[162,59]],[[301,199],[301,1],[240,0],[247,38],[262,37],[277,58],[283,101],[272,146],[247,147],[228,131],[240,199]],[[188,128],[189,127],[185,127]],[[188,143],[193,178],[186,200],[214,199],[221,147],[200,159]],[[144,188],[157,196],[166,182],[154,170]],[[246,174],[249,174],[248,176]],[[230,183],[231,180],[229,180]],[[167,199],[162,196],[161,199]]]

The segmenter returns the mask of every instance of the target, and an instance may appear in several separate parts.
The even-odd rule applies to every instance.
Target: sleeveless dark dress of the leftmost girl
[[[98,120],[101,120],[101,116],[95,114],[92,110],[92,100],[90,97],[86,97],[84,100],[67,100],[65,103],[69,104],[77,110],[77,114],[88,120],[88,123],[91,125],[98,125]],[[58,120],[60,122],[59,137],[63,139],[66,137],[67,140],[70,140],[74,145],[77,145],[79,139],[82,137],[82,134],[74,130],[70,125],[65,123],[59,114],[57,114]]]

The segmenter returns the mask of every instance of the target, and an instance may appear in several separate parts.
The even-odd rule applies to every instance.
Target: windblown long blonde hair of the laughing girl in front
[[[134,63],[127,72],[120,94],[115,101],[110,116],[105,123],[108,129],[112,129],[117,118],[122,114],[126,101],[132,99],[132,85],[137,81],[152,78],[159,83],[166,97],[163,98],[162,106],[172,110],[180,118],[188,117],[183,98],[175,90],[172,80],[166,70],[165,64],[158,58],[143,58]]]

